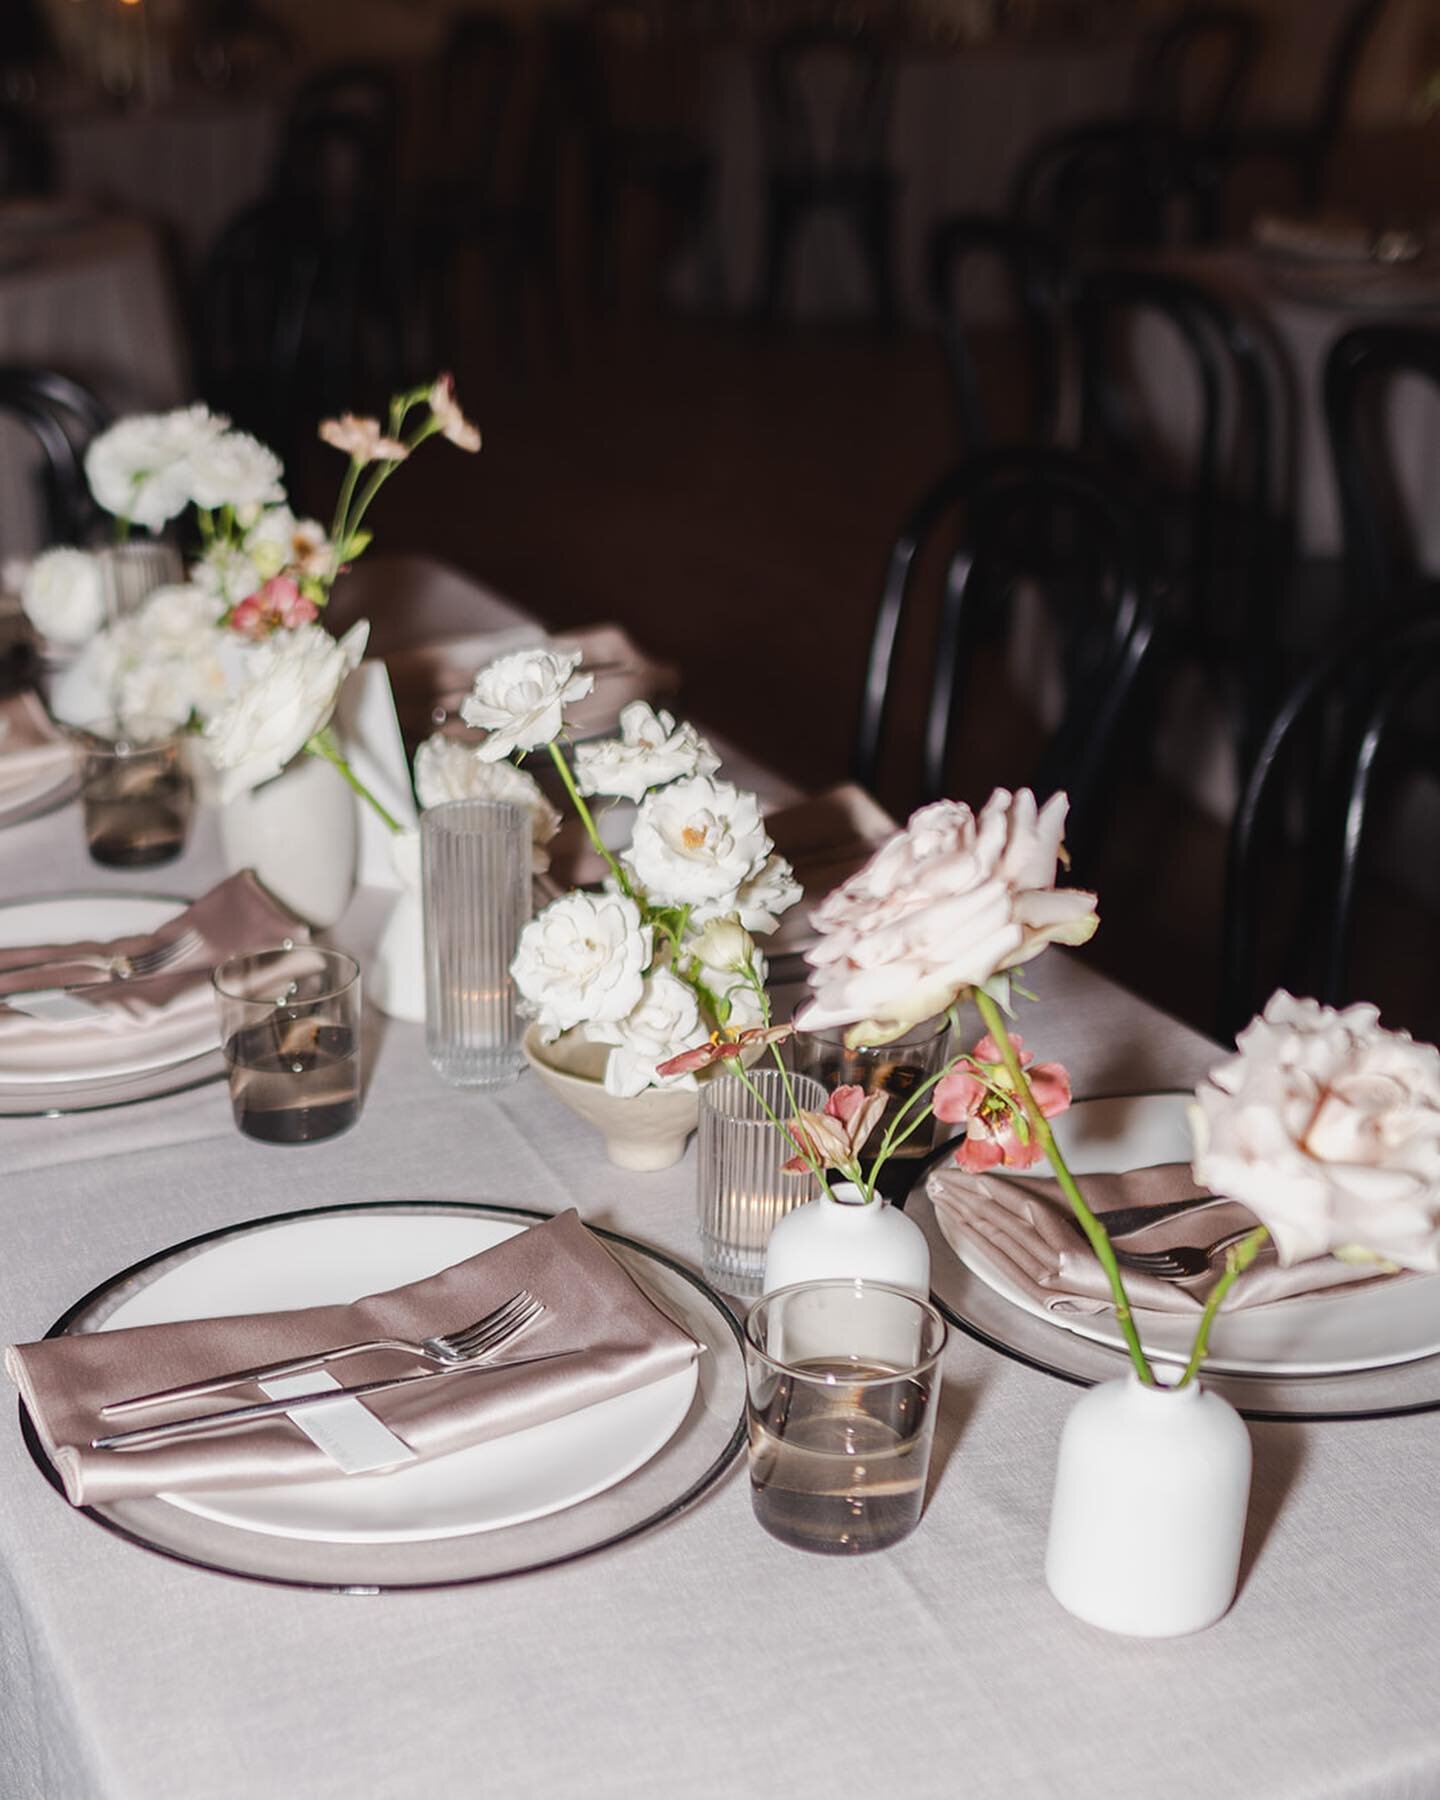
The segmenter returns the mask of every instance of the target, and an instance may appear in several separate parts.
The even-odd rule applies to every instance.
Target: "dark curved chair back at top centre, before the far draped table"
[[[835,81],[824,79],[824,65]],[[797,25],[774,40],[760,74],[761,126],[774,167],[819,175],[884,166],[895,61],[873,36]],[[833,104],[823,104],[826,97]]]

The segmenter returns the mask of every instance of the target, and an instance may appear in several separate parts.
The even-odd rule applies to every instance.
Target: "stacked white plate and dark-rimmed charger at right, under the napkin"
[[[1188,1163],[1188,1107],[1190,1094],[1080,1100],[1055,1121],[1055,1136],[1080,1177]],[[934,1296],[961,1330],[1066,1381],[1125,1373],[1129,1357],[1112,1312],[1048,1312],[979,1253],[961,1260],[923,1192],[911,1195],[907,1211],[931,1240]],[[1199,1310],[1136,1309],[1134,1319],[1147,1355],[1184,1364]],[[1253,1418],[1373,1418],[1440,1408],[1440,1276],[1222,1310],[1204,1379]]]

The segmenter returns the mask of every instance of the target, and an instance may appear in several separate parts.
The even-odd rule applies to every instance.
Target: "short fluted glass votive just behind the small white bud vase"
[[[727,1294],[754,1298],[765,1274],[770,1233],[796,1206],[815,1199],[819,1183],[808,1170],[787,1175],[781,1168],[796,1154],[796,1145],[776,1130],[769,1116],[790,1116],[790,1096],[779,1069],[751,1069],[747,1078],[756,1093],[738,1075],[718,1075],[700,1084],[697,1197],[706,1280]],[[824,1107],[824,1089],[808,1075],[792,1075],[790,1089],[803,1112]]]

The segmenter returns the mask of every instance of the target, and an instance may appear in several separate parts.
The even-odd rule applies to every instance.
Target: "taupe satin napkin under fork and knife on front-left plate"
[[[544,1301],[545,1312],[500,1354],[500,1361],[554,1350],[578,1354],[511,1373],[437,1375],[367,1397],[364,1404],[416,1456],[443,1456],[628,1393],[684,1368],[698,1352],[571,1210],[423,1282],[369,1294],[347,1307],[47,1337],[7,1350],[5,1368],[77,1507],[182,1489],[342,1480],[324,1451],[288,1418],[135,1451],[92,1451],[88,1445],[108,1431],[193,1418],[263,1395],[243,1386],[203,1400],[155,1406],[122,1420],[101,1417],[108,1400],[371,1337],[418,1343],[472,1323],[520,1289]],[[331,1373],[349,1388],[430,1368],[401,1352],[382,1350],[346,1357]]]

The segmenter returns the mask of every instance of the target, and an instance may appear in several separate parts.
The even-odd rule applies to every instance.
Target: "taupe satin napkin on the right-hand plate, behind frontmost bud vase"
[[[1195,1184],[1184,1163],[1136,1168],[1127,1175],[1085,1175],[1080,1186],[1102,1222],[1107,1211],[1168,1206],[1206,1192]],[[1051,1312],[1103,1312],[1109,1307],[1105,1271],[1069,1222],[1073,1215],[1057,1183],[1028,1175],[968,1175],[950,1165],[929,1177],[925,1192],[945,1242],[961,1258],[974,1251]],[[1213,1244],[1231,1231],[1251,1229],[1256,1222],[1247,1208],[1224,1201],[1202,1213],[1161,1219],[1127,1235],[1121,1247],[1152,1251],[1174,1244]],[[1199,1310],[1222,1273],[1224,1258],[1211,1274],[1192,1282],[1163,1282],[1154,1274],[1121,1269],[1130,1303],[1150,1312]],[[1226,1309],[1260,1307],[1296,1294],[1359,1287],[1375,1280],[1384,1276],[1357,1274],[1350,1264],[1336,1262],[1334,1256],[1282,1269],[1274,1253],[1264,1249],[1235,1282]]]

